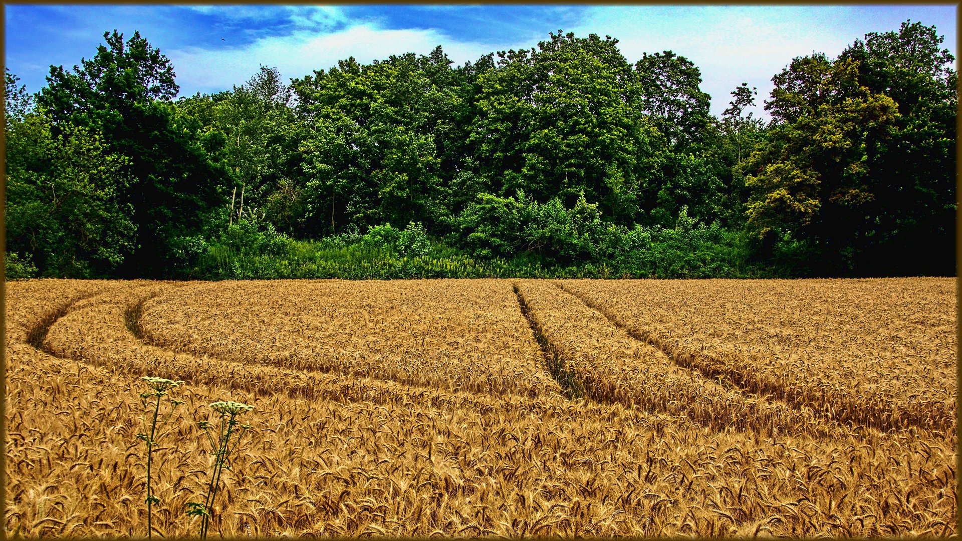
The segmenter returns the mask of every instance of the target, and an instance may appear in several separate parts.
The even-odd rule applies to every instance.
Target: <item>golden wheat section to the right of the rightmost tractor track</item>
[[[560,283],[683,366],[839,423],[954,437],[954,278]]]

